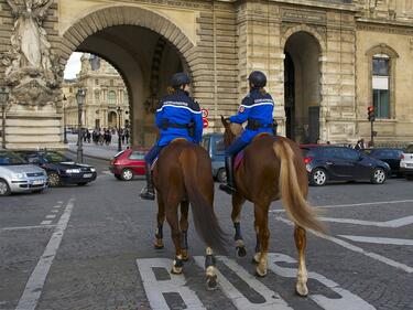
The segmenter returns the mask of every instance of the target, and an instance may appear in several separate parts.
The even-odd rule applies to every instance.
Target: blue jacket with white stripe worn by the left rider
[[[199,143],[203,137],[203,116],[199,105],[195,103],[185,92],[178,89],[174,94],[164,97],[156,110],[155,121],[161,130],[157,146],[164,147],[173,139],[185,138],[191,142]],[[164,122],[170,125],[188,125],[194,122],[195,136],[189,137],[187,128],[164,128]]]

